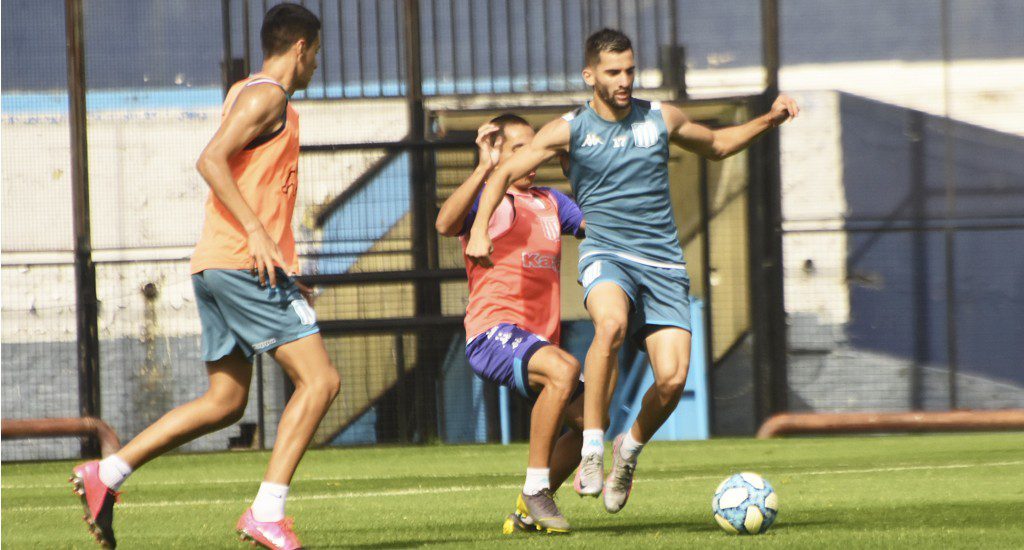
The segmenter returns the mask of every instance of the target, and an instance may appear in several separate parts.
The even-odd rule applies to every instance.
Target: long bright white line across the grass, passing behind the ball
[[[997,467],[997,466],[1020,466],[1024,465],[1024,460],[1007,461],[1007,462],[979,462],[974,464],[940,464],[933,466],[892,466],[888,468],[857,468],[857,469],[844,469],[844,470],[816,470],[816,471],[777,471],[775,476],[781,475],[842,475],[850,473],[879,473],[879,472],[903,472],[903,471],[916,471],[916,470],[954,470],[964,468],[978,468],[978,467]],[[652,479],[637,479],[638,483],[641,482],[666,482],[666,481],[698,481],[705,479],[719,479],[722,477],[721,474],[714,475],[690,475],[682,477],[660,477]],[[332,480],[338,480],[339,478],[331,478]],[[309,479],[306,479],[309,480]],[[180,484],[187,484],[181,482]],[[47,485],[51,486],[51,485]],[[69,485],[70,486],[70,485]],[[520,486],[519,483],[505,483],[505,484],[489,484],[489,485],[463,485],[463,486],[450,486],[450,488],[415,488],[415,489],[396,489],[391,491],[373,491],[373,492],[346,492],[346,493],[331,493],[327,495],[296,495],[289,499],[290,502],[296,501],[323,501],[323,500],[343,500],[343,499],[355,499],[355,498],[376,498],[376,497],[408,497],[415,495],[439,495],[439,494],[451,494],[451,493],[469,493],[472,491],[492,491],[496,489],[506,490],[515,489]],[[70,491],[70,489],[69,489]],[[69,497],[69,501],[71,498]],[[121,508],[167,508],[173,506],[203,506],[203,505],[220,505],[220,504],[239,504],[249,502],[249,498],[244,499],[214,499],[214,500],[191,500],[191,501],[156,501],[156,502],[140,502],[132,503],[126,502],[121,505]],[[4,512],[51,512],[57,510],[72,510],[76,508],[81,508],[79,504],[73,504],[69,502],[67,505],[60,506],[4,506]]]

